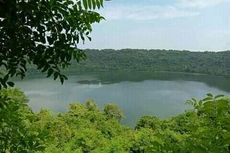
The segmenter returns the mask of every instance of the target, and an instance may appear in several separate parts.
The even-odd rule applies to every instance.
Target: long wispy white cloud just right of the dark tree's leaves
[[[109,20],[154,20],[170,19],[199,15],[198,12],[178,9],[174,6],[113,6],[104,10],[103,15]]]

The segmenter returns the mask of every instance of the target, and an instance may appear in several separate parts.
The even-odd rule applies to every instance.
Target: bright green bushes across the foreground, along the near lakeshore
[[[193,109],[167,120],[144,116],[135,129],[108,104],[71,104],[69,111],[33,112],[16,89],[0,90],[2,153],[226,153],[230,151],[230,98],[208,94]]]

